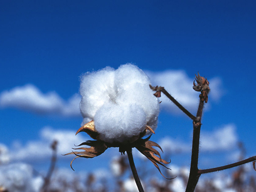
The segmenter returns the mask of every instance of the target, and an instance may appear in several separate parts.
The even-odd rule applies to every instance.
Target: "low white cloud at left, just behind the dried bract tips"
[[[66,154],[72,151],[71,147],[86,140],[81,135],[75,135],[74,131],[53,130],[51,127],[44,127],[40,132],[40,139],[28,141],[25,145],[15,142],[10,150],[11,160],[43,160],[52,155],[51,143],[56,140],[57,153]]]

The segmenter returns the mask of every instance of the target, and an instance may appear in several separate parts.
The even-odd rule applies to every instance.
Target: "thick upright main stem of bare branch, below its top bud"
[[[197,118],[193,121],[193,143],[191,153],[190,172],[186,187],[186,192],[193,192],[201,174],[198,172],[199,140],[201,130],[201,118],[203,113],[204,101],[200,99],[197,111]]]

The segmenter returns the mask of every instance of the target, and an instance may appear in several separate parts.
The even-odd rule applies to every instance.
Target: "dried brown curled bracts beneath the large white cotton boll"
[[[160,148],[160,150],[162,151],[162,148],[160,147],[160,145],[149,140],[151,136],[147,137],[146,139],[142,139],[142,137],[144,137],[148,131],[155,134],[154,130],[150,126],[146,125],[144,131],[140,133],[139,138],[135,137],[134,139],[131,139],[129,143],[123,143],[123,142],[109,143],[99,139],[98,137],[99,133],[95,130],[94,121],[90,121],[84,124],[83,126],[81,126],[80,129],[76,132],[76,134],[80,132],[86,132],[90,137],[96,140],[89,140],[78,145],[78,146],[88,145],[90,147],[74,148],[74,150],[83,150],[83,151],[71,152],[65,155],[71,155],[71,154],[76,155],[76,157],[70,163],[70,166],[73,169],[72,163],[76,158],[79,158],[79,157],[94,158],[104,153],[105,150],[110,147],[119,147],[119,152],[121,154],[125,154],[126,150],[128,150],[129,148],[135,147],[140,153],[142,153],[147,159],[149,159],[157,167],[160,174],[163,176],[158,165],[162,165],[165,168],[168,168],[164,164],[168,164],[169,162],[163,160],[161,158],[160,153],[155,148],[153,148],[153,146],[155,146]]]

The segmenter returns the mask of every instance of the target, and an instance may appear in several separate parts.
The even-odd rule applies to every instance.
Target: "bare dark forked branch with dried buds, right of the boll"
[[[151,89],[156,91],[154,94],[156,97],[161,97],[161,93],[167,96],[174,104],[178,106],[178,108],[184,112],[191,120],[193,120],[193,142],[192,142],[192,150],[191,150],[191,162],[190,162],[190,170],[189,177],[186,185],[185,192],[193,192],[197,186],[199,178],[202,174],[218,172],[220,170],[229,169],[232,167],[240,166],[248,162],[253,161],[253,168],[255,168],[256,156],[250,157],[248,159],[208,169],[199,169],[198,168],[198,160],[199,160],[199,146],[200,146],[200,130],[201,130],[201,119],[203,115],[203,108],[205,103],[208,101],[208,94],[210,92],[209,81],[207,78],[200,76],[199,72],[196,75],[195,80],[193,82],[193,89],[197,92],[200,92],[199,95],[199,105],[196,116],[191,114],[188,110],[186,110],[172,95],[170,95],[164,87],[152,87]]]

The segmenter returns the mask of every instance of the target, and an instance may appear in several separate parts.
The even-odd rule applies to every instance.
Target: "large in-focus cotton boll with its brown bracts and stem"
[[[127,153],[141,191],[132,148],[137,148],[151,160],[160,173],[158,165],[166,167],[164,164],[168,163],[153,148],[156,146],[161,150],[161,147],[149,140],[151,134],[155,133],[159,115],[159,100],[150,89],[150,83],[148,76],[131,64],[122,65],[117,70],[106,67],[82,75],[80,111],[83,122],[76,134],[86,132],[94,140],[79,145],[90,147],[76,148],[83,151],[66,155],[75,154],[74,159],[94,158],[109,147],[119,147],[121,154]]]

